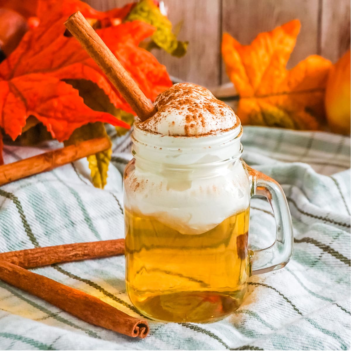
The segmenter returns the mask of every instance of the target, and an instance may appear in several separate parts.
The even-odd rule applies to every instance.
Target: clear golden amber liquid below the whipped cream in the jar
[[[145,316],[212,322],[241,304],[249,276],[249,208],[202,234],[125,211],[126,285]]]

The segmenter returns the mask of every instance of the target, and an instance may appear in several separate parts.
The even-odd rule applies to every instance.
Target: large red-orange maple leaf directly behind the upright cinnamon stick
[[[0,64],[0,127],[15,139],[29,115],[34,115],[59,141],[68,139],[76,128],[89,122],[129,128],[111,114],[87,107],[78,90],[61,81],[91,80],[104,90],[115,107],[133,112],[78,41],[64,35],[66,16],[54,18],[29,30],[15,51]],[[152,100],[172,84],[166,68],[150,52],[138,47],[154,30],[141,21],[97,30]]]

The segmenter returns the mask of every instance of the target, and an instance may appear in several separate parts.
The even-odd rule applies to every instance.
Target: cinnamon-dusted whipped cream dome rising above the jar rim
[[[158,95],[157,112],[140,129],[162,135],[202,136],[228,131],[238,125],[234,111],[204,87],[178,83]]]

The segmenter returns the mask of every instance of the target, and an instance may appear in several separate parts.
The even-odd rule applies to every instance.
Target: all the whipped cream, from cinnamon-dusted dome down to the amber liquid
[[[134,124],[126,209],[193,235],[246,210],[251,185],[233,110],[192,84],[172,86],[155,105],[153,117]]]

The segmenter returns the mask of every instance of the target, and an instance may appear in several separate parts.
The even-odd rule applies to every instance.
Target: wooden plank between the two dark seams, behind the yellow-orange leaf
[[[287,67],[318,53],[318,0],[223,0],[222,30],[247,45],[260,32],[271,31],[292,19],[301,21],[301,31]],[[222,83],[229,81],[224,64]]]

